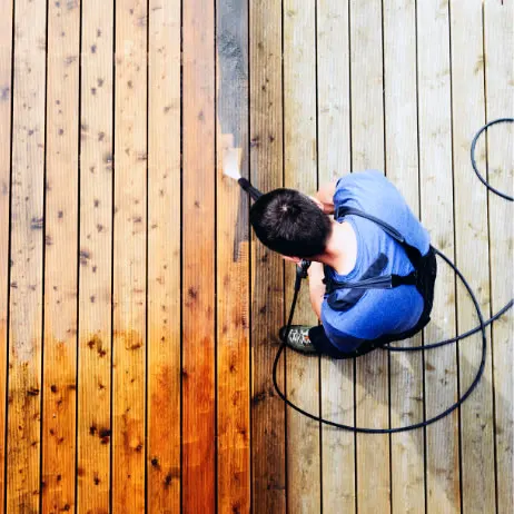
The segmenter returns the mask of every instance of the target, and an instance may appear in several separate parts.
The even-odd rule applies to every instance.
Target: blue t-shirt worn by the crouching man
[[[379,171],[360,171],[337,181],[334,207],[352,207],[375,216],[396,228],[422,255],[429,248],[428,233],[414,216],[405,199]],[[413,265],[402,246],[368,219],[345,216],[357,236],[357,260],[347,275],[325,266],[325,276],[356,281],[384,275],[408,275]],[[337,219],[342,221],[342,219]],[[328,339],[343,352],[350,352],[364,340],[399,334],[416,325],[423,312],[423,297],[415,286],[393,289],[338,289],[334,293],[344,307],[334,310],[322,304],[322,323]],[[339,302],[340,300],[340,302]],[[347,307],[345,307],[345,305]]]

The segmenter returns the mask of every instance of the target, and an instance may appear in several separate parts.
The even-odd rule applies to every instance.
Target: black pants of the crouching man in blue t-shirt
[[[379,348],[380,346],[393,343],[395,340],[403,340],[413,337],[419,330],[425,328],[425,326],[431,320],[431,313],[432,306],[434,305],[434,286],[435,279],[437,276],[437,263],[434,253],[434,248],[431,246],[427,254],[422,257],[418,270],[417,270],[417,281],[416,281],[416,289],[423,296],[423,312],[419,316],[419,320],[416,325],[403,333],[399,334],[392,334],[385,335],[377,339],[373,340],[365,340],[357,349],[352,352],[342,352],[339,348],[334,346],[323,329],[323,326],[313,327],[309,330],[309,338],[316,349],[324,355],[327,355],[332,358],[352,358],[358,357],[360,355],[365,355],[375,348]]]

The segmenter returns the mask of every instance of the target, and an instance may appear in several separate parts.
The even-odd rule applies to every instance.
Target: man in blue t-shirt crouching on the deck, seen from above
[[[380,172],[347,175],[314,198],[275,189],[251,206],[250,223],[259,240],[285,259],[312,261],[310,302],[322,325],[294,325],[286,342],[294,349],[355,357],[412,337],[429,322],[434,249]]]

